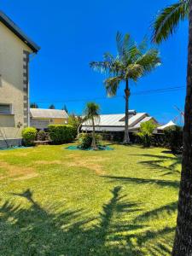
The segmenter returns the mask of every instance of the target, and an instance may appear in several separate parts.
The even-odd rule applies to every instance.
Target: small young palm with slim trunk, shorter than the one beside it
[[[88,102],[86,104],[86,107],[84,109],[84,119],[91,120],[92,123],[92,128],[93,128],[93,132],[92,132],[92,145],[91,147],[96,150],[97,146],[96,146],[96,129],[95,129],[95,120],[99,119],[99,105],[97,105],[95,102]]]

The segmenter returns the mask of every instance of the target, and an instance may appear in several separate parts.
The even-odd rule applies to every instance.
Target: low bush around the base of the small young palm
[[[92,134],[91,133],[80,133],[78,137],[79,141],[79,148],[87,149],[90,148],[92,143]],[[102,143],[102,136],[99,134],[96,134],[96,145],[101,145]]]

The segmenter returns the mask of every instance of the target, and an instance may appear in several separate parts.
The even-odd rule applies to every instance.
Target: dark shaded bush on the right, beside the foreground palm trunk
[[[183,147],[183,129],[180,126],[172,126],[164,131],[166,147],[173,154],[180,154]]]

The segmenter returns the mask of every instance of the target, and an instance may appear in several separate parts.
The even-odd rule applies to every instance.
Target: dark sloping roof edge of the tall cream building
[[[5,15],[2,11],[0,11],[0,21],[2,21],[2,23],[5,26],[7,26],[10,31],[14,32],[15,35],[18,38],[20,38],[21,41],[28,45],[28,47],[31,48],[33,52],[38,53],[38,50],[40,49],[38,44],[32,42],[32,40],[28,38],[26,34],[22,32],[18,26],[16,26],[14,21],[10,20],[9,17]]]

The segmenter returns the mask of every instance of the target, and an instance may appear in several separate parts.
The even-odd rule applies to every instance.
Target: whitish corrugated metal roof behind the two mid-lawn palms
[[[129,118],[129,125],[135,125],[141,119],[147,116],[147,113],[136,113],[135,115],[131,115]],[[100,119],[95,120],[95,124],[99,126],[125,126],[125,121],[121,121],[121,119],[125,118],[125,113],[114,113],[114,114],[101,114]],[[83,126],[90,126],[91,121],[87,120],[83,123]]]

